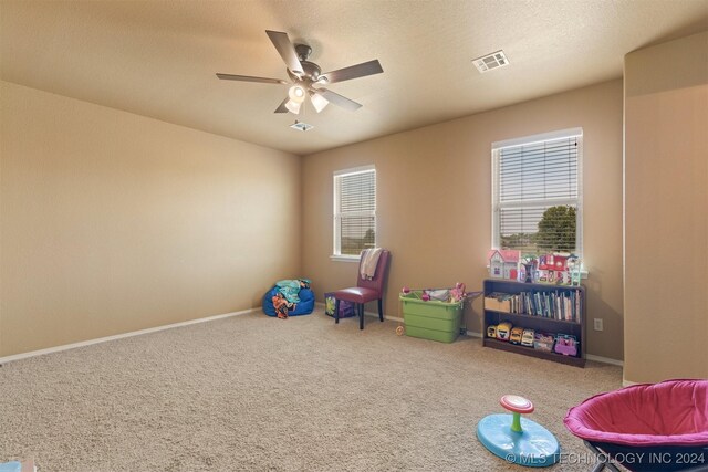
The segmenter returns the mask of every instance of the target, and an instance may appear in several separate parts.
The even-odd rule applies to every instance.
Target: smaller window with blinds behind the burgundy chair
[[[376,169],[334,172],[334,255],[358,256],[376,247]]]

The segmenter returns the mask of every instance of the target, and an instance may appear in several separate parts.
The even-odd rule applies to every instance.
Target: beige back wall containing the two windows
[[[378,244],[392,251],[385,310],[400,316],[403,285],[481,289],[491,244],[491,144],[584,129],[584,253],[590,270],[587,352],[623,358],[622,81],[306,156],[303,273],[317,296],[350,286],[356,264],[331,261],[332,172],[375,164]],[[480,302],[466,312],[481,331]],[[375,311],[375,307],[369,307]],[[604,332],[592,331],[592,318]]]

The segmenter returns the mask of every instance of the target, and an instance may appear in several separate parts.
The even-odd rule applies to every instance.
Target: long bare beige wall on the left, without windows
[[[0,92],[0,357],[250,308],[299,275],[299,157]]]

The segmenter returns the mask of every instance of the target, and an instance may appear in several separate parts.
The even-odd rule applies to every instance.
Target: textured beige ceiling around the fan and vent
[[[6,1],[2,78],[305,155],[617,78],[624,54],[708,29],[708,0]],[[266,30],[310,44],[364,106],[274,114],[287,80]],[[503,49],[510,65],[471,60]],[[302,133],[295,118],[315,126]]]

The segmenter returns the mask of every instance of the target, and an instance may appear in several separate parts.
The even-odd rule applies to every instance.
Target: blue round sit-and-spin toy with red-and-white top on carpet
[[[518,395],[499,401],[511,415],[489,415],[477,424],[477,438],[492,454],[525,466],[553,465],[560,459],[558,439],[541,424],[521,415],[533,412],[533,403]]]

